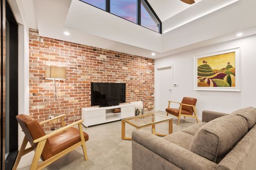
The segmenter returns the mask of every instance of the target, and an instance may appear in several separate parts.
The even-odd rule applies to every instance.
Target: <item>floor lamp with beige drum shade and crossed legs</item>
[[[58,102],[59,109],[61,111],[60,101],[59,101],[59,97],[57,95],[57,90],[58,90],[58,87],[59,87],[60,80],[65,80],[66,79],[66,68],[47,66],[46,67],[46,79],[47,80],[53,80],[54,90],[55,90],[53,102],[52,102],[52,105],[51,105],[51,109],[50,109],[50,112],[48,114],[48,119],[49,119],[49,116],[51,115],[52,107],[53,107],[55,101]],[[56,81],[58,81],[57,86],[56,86]]]

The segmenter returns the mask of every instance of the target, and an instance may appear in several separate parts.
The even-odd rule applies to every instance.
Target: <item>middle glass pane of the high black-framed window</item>
[[[110,0],[110,13],[137,23],[137,0]]]

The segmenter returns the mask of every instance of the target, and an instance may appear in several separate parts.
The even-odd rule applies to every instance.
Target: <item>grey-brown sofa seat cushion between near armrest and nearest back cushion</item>
[[[190,143],[192,142],[193,136],[185,132],[175,132],[173,134],[163,137],[165,140],[177,144],[184,149],[189,149]]]

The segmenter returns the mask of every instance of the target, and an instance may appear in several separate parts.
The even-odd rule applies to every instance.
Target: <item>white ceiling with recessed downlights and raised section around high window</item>
[[[256,34],[256,0],[148,0],[163,22],[158,34],[79,0],[9,0],[41,36],[157,59]],[[17,12],[18,11],[18,12]],[[17,17],[18,18],[18,17]],[[21,22],[20,22],[21,23]],[[64,31],[70,33],[64,35]],[[242,36],[242,37],[243,37]],[[151,53],[155,52],[155,56]]]

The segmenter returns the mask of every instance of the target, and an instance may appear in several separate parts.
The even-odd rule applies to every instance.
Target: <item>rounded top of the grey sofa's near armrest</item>
[[[183,170],[215,170],[217,167],[216,163],[141,129],[133,131],[132,140]]]

